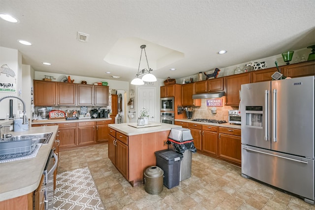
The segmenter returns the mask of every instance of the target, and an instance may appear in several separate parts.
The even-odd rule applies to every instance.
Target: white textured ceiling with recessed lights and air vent
[[[105,61],[122,39],[145,40],[141,44],[147,45],[149,64],[157,57],[150,43],[184,54],[156,66],[153,73],[160,79],[315,44],[314,0],[0,0],[0,13],[20,20],[13,24],[0,19],[0,46],[18,49],[23,63],[34,70],[104,79],[115,75],[122,81],[134,78],[138,61],[133,68]],[[90,34],[89,41],[78,41],[78,31]],[[120,48],[138,60],[140,45]],[[222,49],[228,53],[218,55]]]

